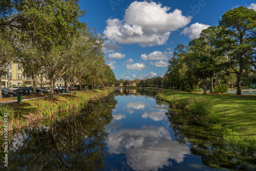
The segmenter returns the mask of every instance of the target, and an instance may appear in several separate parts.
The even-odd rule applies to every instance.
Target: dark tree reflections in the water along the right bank
[[[219,132],[191,124],[179,111],[166,113],[180,143],[191,143],[191,154],[201,156],[204,165],[216,169],[256,170],[256,156],[231,148]]]

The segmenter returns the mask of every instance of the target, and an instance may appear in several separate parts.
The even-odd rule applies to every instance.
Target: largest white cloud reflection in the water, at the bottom
[[[159,170],[172,165],[169,159],[182,163],[191,154],[189,146],[172,141],[165,127],[144,125],[140,129],[118,130],[117,126],[115,122],[106,126],[109,153],[124,154],[127,165],[134,170]]]

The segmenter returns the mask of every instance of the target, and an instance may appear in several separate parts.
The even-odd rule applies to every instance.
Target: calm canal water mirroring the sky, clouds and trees
[[[14,134],[7,170],[254,170],[255,157],[234,155],[220,135],[183,121],[155,92],[119,89]]]

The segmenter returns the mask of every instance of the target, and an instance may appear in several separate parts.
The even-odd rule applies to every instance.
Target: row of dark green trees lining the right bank
[[[169,59],[165,86],[184,90],[200,88],[211,93],[214,87],[237,82],[241,95],[241,79],[255,77],[256,12],[239,7],[222,15],[219,26],[203,30],[188,46],[178,44]],[[250,79],[250,80],[253,80]],[[247,79],[248,81],[248,79]]]

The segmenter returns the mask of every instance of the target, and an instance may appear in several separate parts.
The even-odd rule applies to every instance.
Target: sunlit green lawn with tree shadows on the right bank
[[[213,104],[212,118],[221,121],[234,134],[248,140],[256,140],[256,95],[203,94],[180,90],[164,90],[168,100],[174,98],[206,98]]]

